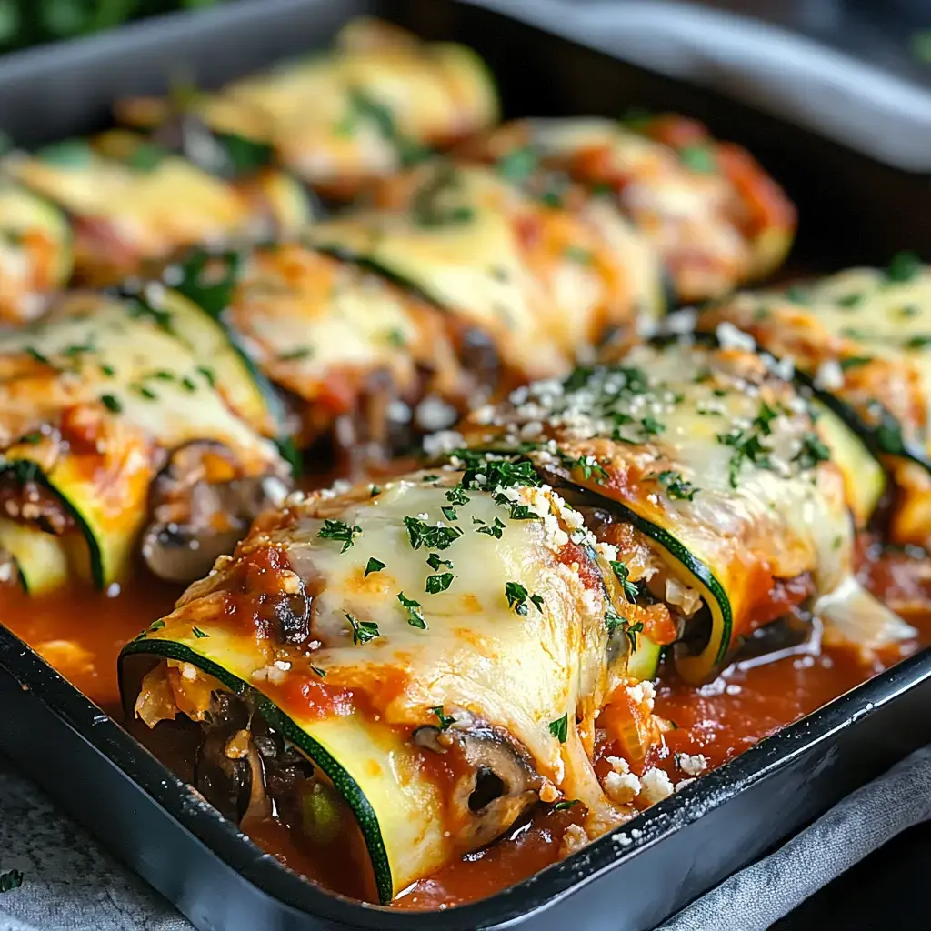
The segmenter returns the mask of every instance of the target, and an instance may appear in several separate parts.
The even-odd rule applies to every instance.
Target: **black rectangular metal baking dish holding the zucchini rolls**
[[[508,116],[616,115],[640,105],[694,115],[748,146],[799,205],[790,267],[882,263],[905,248],[931,253],[926,177],[452,0],[244,0],[23,53],[0,62],[0,127],[27,144],[87,132],[106,123],[118,94],[160,90],[172,74],[216,84],[322,46],[360,12],[475,47]],[[0,627],[0,749],[198,928],[225,931],[650,928],[931,741],[929,701],[925,650],[524,883],[449,911],[399,912],[331,896],[263,854]]]

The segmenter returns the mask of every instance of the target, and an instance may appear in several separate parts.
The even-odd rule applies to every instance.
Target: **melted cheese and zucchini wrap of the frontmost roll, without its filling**
[[[391,482],[374,496],[364,487],[306,499],[277,526],[253,530],[235,559],[191,587],[165,626],[146,638],[182,642],[250,682],[335,757],[374,807],[396,891],[461,852],[444,833],[441,796],[417,762],[422,751],[408,742],[418,726],[436,725],[434,708],[506,730],[566,797],[581,799],[606,823],[614,811],[580,738],[624,676],[623,663],[612,665],[605,625],[609,604],[600,579],[610,569],[570,544],[568,533],[554,533],[581,520],[546,488],[506,490],[542,519],[510,519],[507,504],[471,489],[468,502],[454,506],[453,520],[442,508],[460,478],[443,470],[436,479],[417,474]],[[462,533],[448,546],[415,546],[405,518]],[[352,544],[321,537],[324,519],[358,528]],[[479,533],[496,519],[500,537]],[[266,639],[259,627],[256,636],[244,636],[242,625],[261,610],[260,601],[236,600],[232,622],[223,607],[242,591],[237,573],[269,546],[290,567],[277,589],[312,594],[310,651],[275,635]],[[452,567],[432,569],[431,553]],[[373,558],[385,566],[366,575]],[[584,581],[593,569],[594,583]],[[452,581],[430,594],[426,580],[437,573],[452,573]],[[515,583],[527,597],[509,603],[506,587]],[[417,614],[398,600],[401,593],[419,602]],[[354,627],[363,625],[377,635],[354,638]],[[321,694],[348,698],[320,704]]]

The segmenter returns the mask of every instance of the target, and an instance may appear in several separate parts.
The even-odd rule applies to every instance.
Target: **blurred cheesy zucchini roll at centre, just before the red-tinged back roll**
[[[638,313],[659,313],[659,270],[611,205],[550,206],[491,169],[439,159],[374,197],[307,240],[479,328],[514,385],[570,371],[608,335],[632,334]]]

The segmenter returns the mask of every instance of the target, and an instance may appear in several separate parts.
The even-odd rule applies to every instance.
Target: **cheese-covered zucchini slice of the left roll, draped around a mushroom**
[[[30,392],[35,403],[31,433],[3,452],[0,472],[55,492],[87,540],[98,587],[128,571],[165,452],[213,440],[244,476],[282,466],[274,445],[230,410],[170,326],[202,338],[200,312],[182,307],[167,318],[141,306],[74,294],[42,323],[0,338],[13,385],[2,387],[17,392],[10,433],[21,428]],[[214,358],[222,351],[217,344]]]

